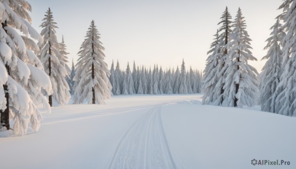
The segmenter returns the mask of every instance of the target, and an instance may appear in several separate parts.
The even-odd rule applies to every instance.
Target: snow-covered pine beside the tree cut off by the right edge
[[[267,59],[262,72],[260,74],[260,84],[259,84],[259,103],[261,105],[262,111],[275,112],[275,100],[278,96],[276,93],[276,88],[280,82],[280,77],[282,74],[282,49],[280,42],[286,35],[282,30],[282,25],[277,19],[276,23],[270,28],[272,30],[271,36],[266,40],[267,45],[264,50],[267,50],[266,56],[261,60]]]

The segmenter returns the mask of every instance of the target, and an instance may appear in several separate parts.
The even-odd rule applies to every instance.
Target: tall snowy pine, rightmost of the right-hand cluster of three
[[[246,22],[238,8],[230,34],[227,69],[225,70],[225,95],[222,105],[230,107],[254,106],[258,99],[257,70],[248,64],[248,60],[257,61],[250,49],[250,36],[246,31]]]

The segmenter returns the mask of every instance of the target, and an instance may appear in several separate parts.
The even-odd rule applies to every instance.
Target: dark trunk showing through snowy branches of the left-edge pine
[[[1,23],[1,25],[2,25],[2,28],[4,29],[4,27],[7,26],[7,22],[4,21],[4,23]],[[5,32],[7,33],[6,30],[5,30]],[[7,64],[5,64],[5,68],[6,68],[6,71],[7,71],[8,75],[10,76],[10,70],[9,70],[9,66]],[[9,130],[10,125],[9,125],[9,93],[8,93],[8,86],[6,84],[3,85],[3,89],[4,89],[4,92],[5,92],[6,109],[4,111],[0,110],[0,124],[1,124],[1,127],[6,127],[6,129]]]

